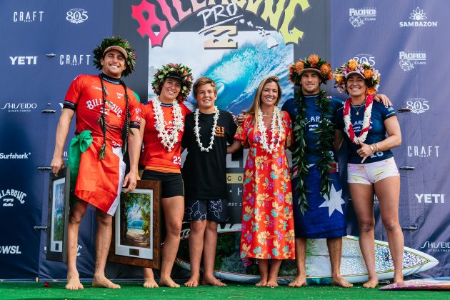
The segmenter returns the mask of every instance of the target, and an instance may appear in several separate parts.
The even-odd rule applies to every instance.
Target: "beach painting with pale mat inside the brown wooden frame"
[[[153,259],[153,190],[122,192],[120,198],[115,216],[115,254]]]

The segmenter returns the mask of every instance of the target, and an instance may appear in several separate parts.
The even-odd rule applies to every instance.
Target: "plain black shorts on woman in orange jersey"
[[[152,170],[145,170],[141,179],[160,181],[161,198],[184,196],[184,186],[181,173],[162,173]]]

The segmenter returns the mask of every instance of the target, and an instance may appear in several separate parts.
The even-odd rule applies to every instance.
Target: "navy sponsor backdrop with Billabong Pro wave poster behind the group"
[[[398,3],[397,3],[398,2]],[[356,58],[382,74],[381,93],[399,112],[403,143],[394,151],[401,167],[400,222],[405,245],[439,259],[420,276],[445,276],[450,261],[446,228],[449,160],[441,146],[450,125],[442,53],[450,41],[444,1],[2,1],[0,49],[0,279],[62,279],[66,267],[46,261],[48,185],[54,134],[66,89],[79,74],[96,74],[92,49],[104,36],[121,35],[136,48],[136,72],[126,83],[146,101],[156,68],[190,66],[194,78],[209,76],[219,87],[220,109],[239,114],[259,81],[281,79],[283,101],[294,93],[287,66],[317,53],[336,67]],[[324,87],[336,94],[332,84]],[[336,95],[342,98],[341,95]],[[195,109],[189,96],[188,105]],[[73,136],[72,126],[68,139]],[[446,137],[447,136],[447,137]],[[66,159],[66,155],[64,156]],[[231,220],[240,227],[241,174],[246,151],[227,158]],[[349,200],[349,234],[357,226]],[[386,241],[378,206],[376,239]],[[95,211],[84,217],[78,246],[82,278],[94,271]],[[188,224],[183,235],[189,234]],[[239,248],[238,240],[236,247]],[[112,278],[137,278],[137,268],[108,264]],[[447,274],[446,274],[447,273]],[[180,271],[178,277],[186,276]]]

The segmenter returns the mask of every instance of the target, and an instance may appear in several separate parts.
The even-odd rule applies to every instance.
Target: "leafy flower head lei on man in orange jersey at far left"
[[[131,48],[129,42],[126,41],[126,39],[122,39],[120,36],[104,38],[103,41],[101,41],[101,44],[99,46],[96,46],[92,51],[92,53],[94,54],[94,60],[92,61],[92,63],[94,64],[96,69],[101,70],[103,66],[101,66],[100,60],[103,59],[106,49],[110,48],[111,46],[119,46],[125,51],[126,69],[122,72],[122,76],[129,76],[129,74],[133,73],[134,71],[134,66],[136,64],[136,55],[133,53],[134,49]]]

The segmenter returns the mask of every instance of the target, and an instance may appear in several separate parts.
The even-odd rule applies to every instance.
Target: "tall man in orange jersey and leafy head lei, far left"
[[[132,51],[128,41],[120,37],[105,38],[94,49],[94,65],[102,73],[98,76],[80,75],[72,81],[56,129],[51,161],[54,174],[64,167],[64,144],[71,120],[76,114],[76,137],[71,141],[69,163],[78,161],[72,169],[79,168],[79,173],[74,176],[77,179],[74,186],[77,200],[69,212],[66,289],[83,289],[76,269],[76,247],[80,222],[88,204],[96,207],[97,219],[96,264],[92,286],[120,288],[106,279],[104,269],[111,244],[112,216],[119,204],[121,188],[128,185],[128,192],[136,186],[141,146],[140,106],[133,91],[121,81],[121,76],[128,76],[134,71],[136,56]],[[126,130],[122,135],[124,127]],[[126,144],[130,172],[124,178],[122,148],[126,149]]]

